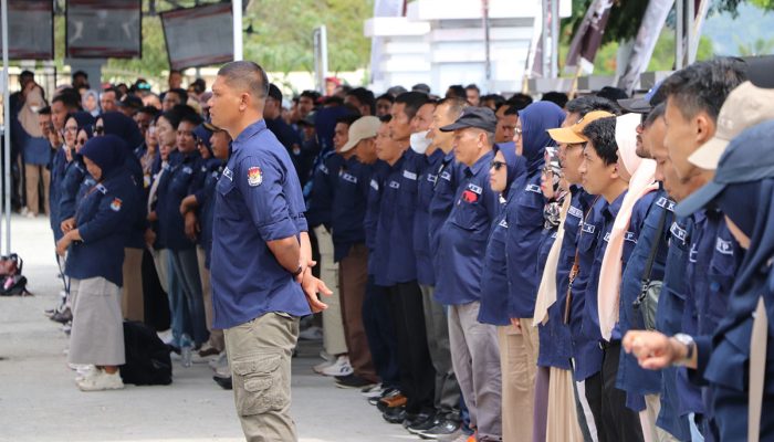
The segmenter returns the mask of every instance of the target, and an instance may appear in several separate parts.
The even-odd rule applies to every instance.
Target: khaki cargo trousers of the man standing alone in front
[[[290,415],[299,318],[266,313],[226,329],[234,403],[248,442],[297,441]]]

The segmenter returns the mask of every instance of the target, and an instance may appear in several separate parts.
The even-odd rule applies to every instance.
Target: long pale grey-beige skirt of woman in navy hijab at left
[[[121,287],[104,277],[73,278],[70,291],[74,304],[69,362],[124,365]]]

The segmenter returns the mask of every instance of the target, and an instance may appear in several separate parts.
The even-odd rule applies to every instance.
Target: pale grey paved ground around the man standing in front
[[[25,260],[34,296],[0,298],[0,441],[243,440],[231,392],[211,381],[206,365],[178,362],[167,387],[79,391],[63,354],[67,339],[43,316],[61,290],[48,220],[12,222],[13,251]],[[318,351],[305,344],[293,361],[293,417],[302,442],[417,440],[384,422],[359,392],[314,375]]]

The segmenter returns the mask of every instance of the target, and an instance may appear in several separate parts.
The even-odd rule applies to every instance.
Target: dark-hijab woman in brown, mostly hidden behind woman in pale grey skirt
[[[114,135],[123,143],[124,167],[130,173],[137,198],[145,196],[143,167],[134,155],[134,148],[143,144],[143,135],[134,119],[119,112],[107,112],[97,117],[95,129],[97,136]],[[145,320],[145,302],[143,296],[143,250],[145,250],[146,234],[149,225],[147,212],[144,206],[139,208],[133,221],[130,234],[127,238],[124,259],[124,296],[122,296],[122,312],[124,318],[129,320]]]

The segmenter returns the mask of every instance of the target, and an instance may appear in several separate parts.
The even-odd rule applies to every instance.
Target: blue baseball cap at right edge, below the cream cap
[[[729,185],[774,177],[774,155],[764,152],[774,138],[774,120],[745,129],[729,143],[720,157],[712,181],[674,208],[678,217],[688,217],[714,200]],[[766,151],[768,151],[766,149]]]

